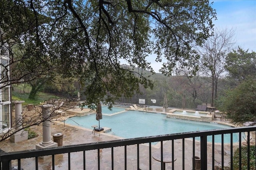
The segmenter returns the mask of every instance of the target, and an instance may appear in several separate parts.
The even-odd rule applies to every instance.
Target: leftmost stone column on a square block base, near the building
[[[14,131],[18,131],[20,129],[22,129],[22,103],[24,103],[24,101],[15,101],[15,130]],[[16,143],[16,142],[20,142],[20,141],[24,141],[28,139],[28,132],[21,130],[16,132],[15,134],[13,134],[10,137],[10,141]]]

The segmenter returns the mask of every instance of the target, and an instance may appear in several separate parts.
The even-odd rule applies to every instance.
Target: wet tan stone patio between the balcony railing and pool
[[[65,117],[62,117],[65,119]],[[111,127],[110,127],[111,128]],[[21,151],[36,149],[36,144],[42,141],[42,125],[31,127],[33,131],[38,133],[38,137],[33,139],[28,139],[26,141],[21,141],[18,143],[12,143],[10,140],[0,142],[0,148],[5,152]],[[93,128],[92,128],[93,129]],[[77,126],[65,125],[61,121],[53,121],[51,123],[51,135],[55,133],[63,133],[63,146],[76,145],[82,143],[94,143],[102,141],[112,141],[119,139],[113,135],[107,133],[92,133],[92,129],[85,129]],[[53,140],[53,139],[52,139]],[[255,141],[255,140],[254,140]],[[164,142],[164,152],[171,152],[172,142]],[[236,149],[237,145],[233,148]],[[200,156],[200,143],[196,142],[196,156]],[[230,160],[230,145],[224,146],[224,160]],[[160,152],[160,145],[152,145],[152,153]],[[212,168],[212,144],[208,144],[208,168]],[[221,145],[215,145],[215,165],[220,165],[221,163]],[[97,150],[86,151],[86,169],[88,170],[98,170],[97,162]],[[174,169],[182,169],[182,140],[174,141],[174,156],[177,160],[174,162]],[[185,169],[192,169],[192,141],[189,139],[185,140]],[[225,162],[225,166],[228,166],[229,162]],[[40,170],[50,170],[52,165],[51,156],[47,156],[44,159],[38,158],[38,164]],[[140,169],[149,169],[149,147],[148,145],[140,145]],[[17,166],[17,161],[12,162],[12,166]],[[127,146],[127,169],[136,170],[137,169],[137,146],[130,145]],[[28,158],[21,160],[21,167],[24,170],[35,169],[35,158]],[[172,163],[166,163],[166,169],[171,169]],[[68,154],[58,154],[55,156],[55,169],[64,170],[68,169]],[[82,152],[71,153],[71,169],[81,170],[83,169],[83,156]],[[111,169],[111,149],[100,150],[100,169],[110,170]],[[124,147],[114,148],[114,170],[124,169]],[[161,163],[152,158],[152,170],[161,169]]]

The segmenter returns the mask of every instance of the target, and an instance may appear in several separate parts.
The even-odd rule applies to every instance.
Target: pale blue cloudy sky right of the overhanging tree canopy
[[[234,29],[236,47],[256,52],[256,0],[210,0],[214,2],[217,20],[213,21],[218,29]],[[154,56],[154,55],[153,55]],[[154,57],[148,57],[148,62],[156,72],[161,63],[156,63]]]

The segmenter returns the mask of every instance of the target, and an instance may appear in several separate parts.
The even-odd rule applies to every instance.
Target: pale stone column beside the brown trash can
[[[42,117],[45,120],[43,122],[43,141],[36,145],[36,149],[44,149],[51,147],[58,147],[58,143],[53,142],[51,139],[51,124],[50,121],[47,120],[50,112],[52,111],[53,105],[45,104],[42,105]],[[40,158],[44,158],[43,156]]]

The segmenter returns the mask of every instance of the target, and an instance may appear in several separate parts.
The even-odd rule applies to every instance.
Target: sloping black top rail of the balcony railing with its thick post
[[[80,151],[86,151],[86,150],[97,150],[97,149],[121,147],[121,146],[128,146],[128,145],[138,145],[143,143],[150,143],[150,146],[151,146],[151,143],[153,142],[162,142],[162,141],[169,141],[169,140],[175,140],[175,139],[200,137],[201,162],[202,162],[201,169],[207,169],[207,136],[243,133],[243,132],[247,132],[249,134],[251,131],[256,131],[256,127],[255,126],[235,127],[231,129],[195,131],[195,132],[188,132],[188,133],[176,133],[176,134],[169,134],[169,135],[139,137],[139,138],[133,138],[133,139],[121,139],[121,140],[86,143],[86,144],[79,144],[79,145],[68,145],[68,146],[47,148],[47,149],[24,150],[24,151],[18,151],[18,152],[3,152],[3,151],[1,152],[0,150],[0,162],[2,163],[2,170],[9,170],[11,160],[20,160],[22,158],[40,157],[40,156],[47,156],[47,155],[80,152]],[[248,139],[250,139],[250,135],[248,135]],[[239,146],[241,147],[241,139],[239,143],[240,143]],[[222,141],[222,145],[223,145],[223,141]],[[0,166],[0,170],[1,170],[1,166]]]

